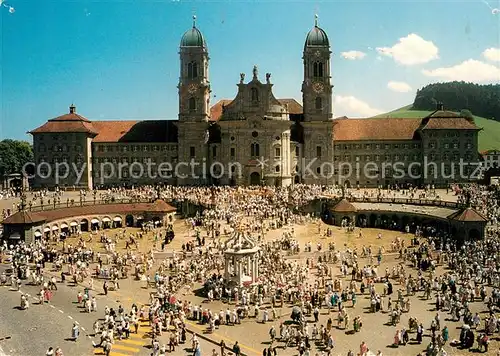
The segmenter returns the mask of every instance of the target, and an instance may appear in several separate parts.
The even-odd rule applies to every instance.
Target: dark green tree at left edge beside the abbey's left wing
[[[21,173],[23,166],[33,162],[33,148],[26,141],[0,141],[0,177]]]

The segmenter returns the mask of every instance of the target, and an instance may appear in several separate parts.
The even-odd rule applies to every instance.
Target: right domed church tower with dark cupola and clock
[[[302,105],[305,121],[327,121],[333,118],[330,60],[330,42],[326,32],[318,27],[316,15],[314,27],[304,44],[304,81]]]

